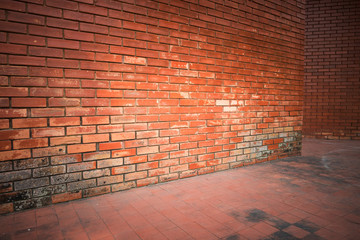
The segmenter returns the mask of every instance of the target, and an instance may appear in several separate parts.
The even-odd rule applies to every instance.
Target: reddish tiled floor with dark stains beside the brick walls
[[[360,142],[1,216],[0,239],[360,239]]]

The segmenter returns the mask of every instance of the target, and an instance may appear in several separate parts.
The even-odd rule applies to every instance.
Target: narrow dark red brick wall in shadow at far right
[[[303,133],[360,139],[360,1],[308,0]]]

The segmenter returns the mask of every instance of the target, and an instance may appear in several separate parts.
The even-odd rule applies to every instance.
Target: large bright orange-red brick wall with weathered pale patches
[[[303,0],[0,6],[2,213],[299,154]]]

